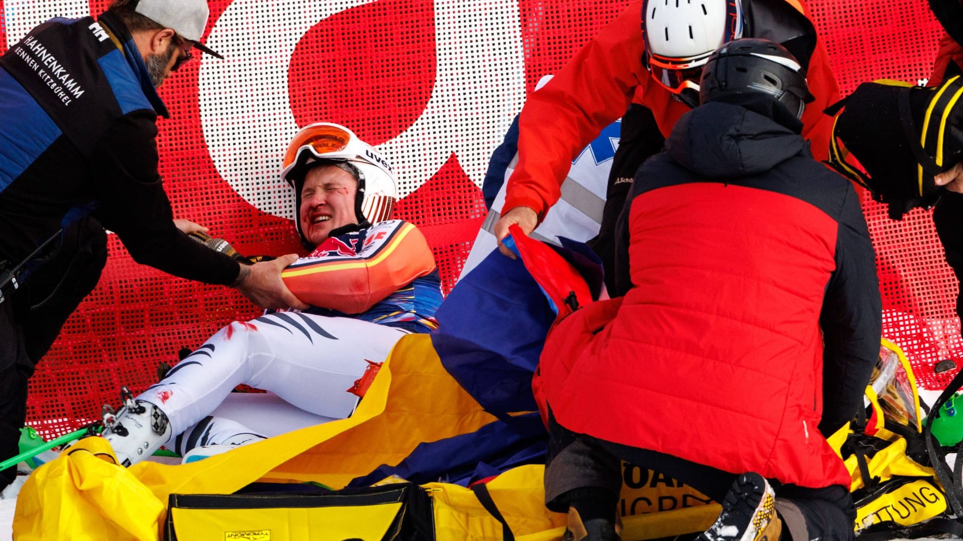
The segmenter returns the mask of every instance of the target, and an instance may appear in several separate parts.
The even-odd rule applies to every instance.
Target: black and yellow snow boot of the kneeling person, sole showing
[[[697,541],[779,541],[782,520],[775,503],[775,492],[765,477],[742,474],[722,500],[716,522]]]

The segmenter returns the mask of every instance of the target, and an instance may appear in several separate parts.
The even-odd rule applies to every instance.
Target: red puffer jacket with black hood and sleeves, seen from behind
[[[666,148],[639,169],[622,224],[629,293],[549,334],[540,399],[578,433],[848,486],[820,425],[851,419],[879,348],[859,198],[801,138],[740,107],[693,110]]]

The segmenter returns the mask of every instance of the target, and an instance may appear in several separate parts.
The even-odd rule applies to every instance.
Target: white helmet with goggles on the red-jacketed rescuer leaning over
[[[666,90],[699,104],[699,77],[709,55],[742,38],[741,0],[643,0],[642,63]]]

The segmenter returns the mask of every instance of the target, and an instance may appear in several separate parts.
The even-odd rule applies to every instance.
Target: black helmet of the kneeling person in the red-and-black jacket
[[[733,39],[716,49],[702,69],[702,103],[746,92],[772,96],[796,118],[814,99],[802,65],[786,47],[768,39]]]

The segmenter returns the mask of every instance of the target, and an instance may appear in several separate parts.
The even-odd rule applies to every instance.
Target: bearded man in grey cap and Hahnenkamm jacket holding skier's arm
[[[96,20],[54,18],[0,58],[0,459],[17,453],[27,380],[96,285],[104,228],[138,263],[306,308],[280,270],[241,265],[175,226],[157,172],[156,88],[199,42],[206,0],[116,0]],[[15,469],[0,473],[0,489]]]

